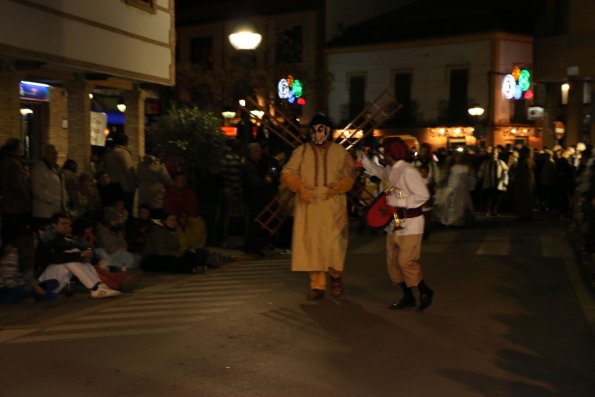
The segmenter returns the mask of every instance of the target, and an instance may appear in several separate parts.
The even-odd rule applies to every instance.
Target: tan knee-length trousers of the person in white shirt
[[[419,264],[422,236],[400,236],[395,233],[386,236],[386,264],[393,285],[404,281],[408,287],[416,287],[423,280]]]

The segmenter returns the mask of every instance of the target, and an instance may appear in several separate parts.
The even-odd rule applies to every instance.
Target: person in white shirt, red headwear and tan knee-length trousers
[[[394,207],[398,217],[386,228],[386,262],[388,275],[395,286],[403,290],[403,298],[389,306],[399,310],[415,307],[413,287],[419,290],[419,310],[432,304],[434,291],[430,289],[421,271],[421,244],[424,232],[423,204],[430,198],[426,183],[419,171],[406,160],[410,158],[407,144],[400,138],[386,138],[383,143],[385,167],[371,161],[363,152],[358,160],[364,169],[380,178],[393,190],[387,204]]]

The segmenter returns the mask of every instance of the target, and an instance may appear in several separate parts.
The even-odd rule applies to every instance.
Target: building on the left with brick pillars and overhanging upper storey
[[[111,110],[101,98],[126,105],[114,123],[142,155],[147,97],[175,83],[174,0],[0,0],[0,9],[0,141],[23,139],[30,160],[51,143],[60,161],[90,169],[92,143],[105,141],[92,124],[108,124],[92,110]]]

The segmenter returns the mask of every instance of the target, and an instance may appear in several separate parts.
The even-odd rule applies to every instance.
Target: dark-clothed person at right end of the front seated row
[[[170,273],[204,273],[206,258],[184,250],[176,236],[175,214],[166,213],[149,229],[141,269]]]

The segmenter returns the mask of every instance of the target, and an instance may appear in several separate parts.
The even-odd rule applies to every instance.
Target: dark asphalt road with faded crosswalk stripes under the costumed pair
[[[0,397],[594,396],[594,305],[567,224],[438,229],[434,304],[395,312],[384,237],[352,233],[341,299],[284,257],[136,292],[0,307]]]

